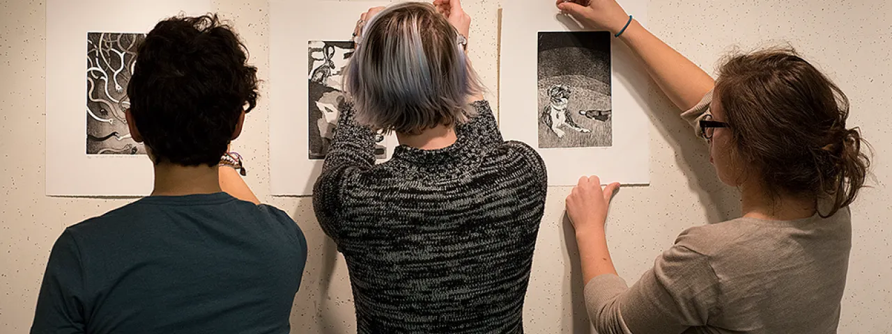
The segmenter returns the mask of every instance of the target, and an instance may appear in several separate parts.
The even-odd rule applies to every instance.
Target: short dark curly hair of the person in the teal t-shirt
[[[162,20],[146,35],[127,93],[156,164],[219,164],[243,110],[257,105],[257,68],[246,61],[217,14]]]

